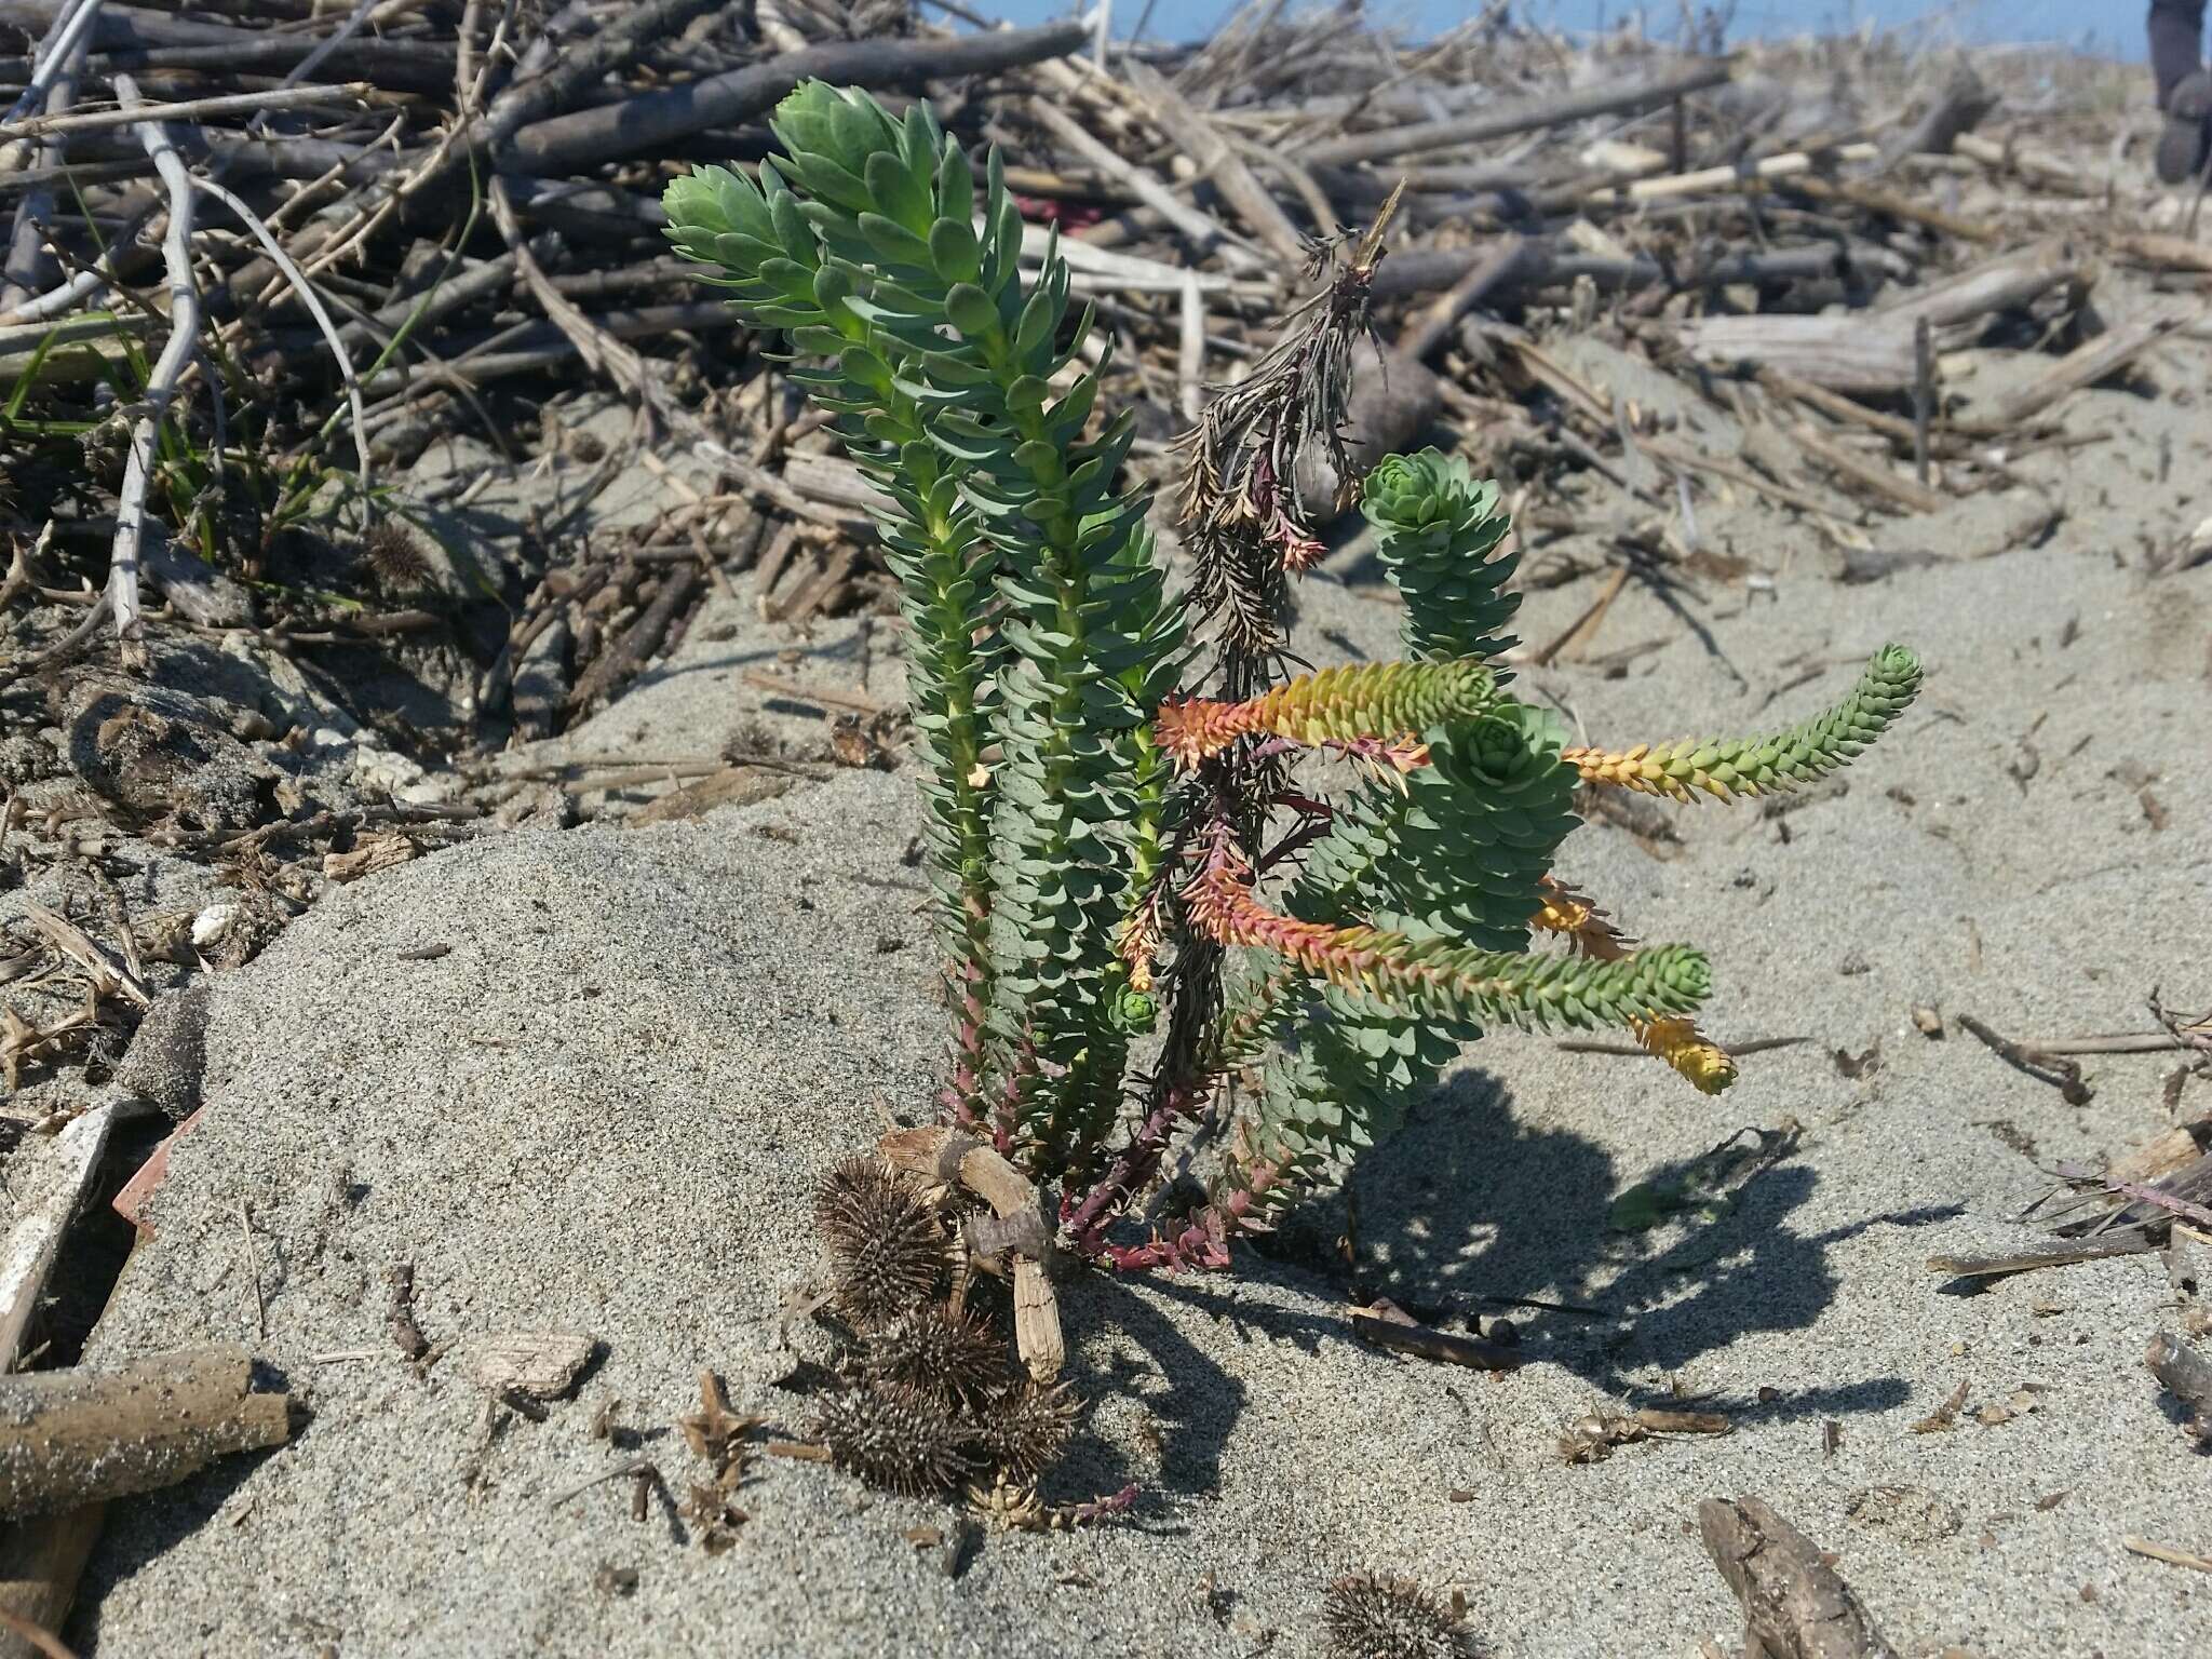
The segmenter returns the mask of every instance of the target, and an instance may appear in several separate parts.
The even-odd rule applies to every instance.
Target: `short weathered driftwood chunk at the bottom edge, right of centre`
[[[1896,1659],[1818,1546],[1756,1498],[1708,1498],[1697,1531],[1743,1604],[1743,1659]]]

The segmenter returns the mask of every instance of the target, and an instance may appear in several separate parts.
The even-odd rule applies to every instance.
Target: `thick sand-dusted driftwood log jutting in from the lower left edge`
[[[232,1451],[279,1447],[290,1407],[252,1391],[252,1356],[234,1345],[0,1378],[0,1515],[155,1491]]]

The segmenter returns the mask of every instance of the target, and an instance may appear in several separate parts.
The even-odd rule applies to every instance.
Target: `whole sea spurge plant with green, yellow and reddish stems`
[[[1170,595],[1148,502],[1121,482],[1128,418],[1097,407],[1082,356],[1088,312],[998,155],[978,168],[927,106],[894,119],[823,84],[774,133],[757,179],[677,179],[668,234],[787,341],[792,378],[889,502],[956,1011],[942,1102],[1060,1188],[1071,1245],[1117,1267],[1225,1263],[1491,1024],[1626,1029],[1708,1093],[1734,1079],[1694,1024],[1705,958],[1635,949],[1553,878],[1575,790],[1690,801],[1818,779],[1911,701],[1911,653],[1885,648],[1843,703],[1774,737],[1568,745],[1511,692],[1495,484],[1433,449],[1365,480],[1349,465],[1389,208],[1316,248],[1323,292],[1190,434],[1192,577]],[[1290,675],[1287,584],[1323,546],[1292,487],[1303,462],[1358,495],[1405,661]],[[1349,787],[1301,783],[1316,754],[1352,759]],[[1201,1128],[1206,1197],[1115,1237]]]

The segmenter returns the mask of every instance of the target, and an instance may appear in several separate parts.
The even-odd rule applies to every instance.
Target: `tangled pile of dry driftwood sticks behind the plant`
[[[471,706],[520,714],[504,739],[619,690],[730,571],[768,566],[772,617],[869,602],[867,493],[661,241],[666,179],[761,157],[810,75],[927,93],[1004,150],[1037,246],[1057,226],[1097,305],[1139,465],[1267,349],[1312,243],[1402,184],[1376,288],[1398,358],[1385,436],[1455,434],[1533,540],[1610,524],[1617,573],[1697,555],[1708,493],[1798,515],[1880,573],[1869,515],[2006,484],[2024,445],[2073,442],[2039,425],[2068,392],[2197,323],[2177,296],[2106,327],[2106,261],[2181,288],[2212,270],[2137,210],[2141,155],[2068,142],[2110,108],[2086,69],[2068,91],[1997,60],[2006,88],[1885,40],[1573,44],[1502,7],[1422,44],[1356,4],[1283,0],[1197,46],[964,18],[0,0],[9,604],[75,622],[49,659],[146,617],[301,650],[447,637],[482,675]],[[1593,332],[1745,440],[1701,447],[1595,385],[1557,352]],[[2042,361],[1962,411],[1944,358],[1989,341]],[[538,526],[478,582],[502,611],[489,637],[453,628],[409,584],[409,465],[445,434],[546,453],[546,403],[580,383],[637,411],[650,465],[681,451],[712,484],[670,473],[668,511],[617,549],[580,551],[573,518]],[[580,504],[635,449],[593,462]],[[358,584],[312,557],[332,544]],[[551,697],[540,675],[515,708],[549,657]]]

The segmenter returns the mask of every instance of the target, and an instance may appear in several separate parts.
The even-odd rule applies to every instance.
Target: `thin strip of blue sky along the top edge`
[[[1046,22],[1079,11],[1071,0],[969,0],[969,9],[1011,22]],[[1208,35],[1234,9],[1234,0],[1157,0],[1150,33]],[[1115,24],[1126,33],[1141,11],[1144,0],[1115,0]],[[1449,29],[1480,11],[1482,0],[1369,0],[1374,18],[1402,20],[1416,33]],[[1644,11],[1648,33],[1672,38],[1681,0],[1644,7],[1624,0],[1517,0],[1515,11],[1559,29],[1593,29]],[[1734,9],[1736,38],[1834,33],[1865,22],[1885,29],[1920,24],[1969,42],[2057,40],[2110,58],[2143,55],[2141,0],[2119,7],[2084,7],[2079,0],[1743,0]]]

